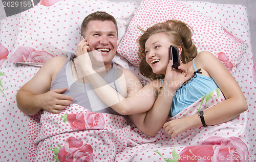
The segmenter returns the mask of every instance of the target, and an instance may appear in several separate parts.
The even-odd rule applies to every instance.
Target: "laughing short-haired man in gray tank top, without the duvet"
[[[84,18],[81,25],[81,35],[84,39],[78,43],[76,49],[78,57],[75,57],[74,54],[68,54],[68,58],[54,57],[46,62],[37,74],[17,92],[18,108],[28,115],[36,114],[40,110],[60,113],[68,105],[75,103],[93,112],[117,115],[130,114],[129,117],[141,131],[154,136],[158,129],[151,132],[153,129],[150,128],[154,125],[154,127],[160,129],[163,123],[156,121],[159,118],[167,119],[168,112],[163,117],[159,111],[163,110],[163,107],[166,107],[166,111],[169,111],[172,103],[169,96],[173,96],[173,93],[169,92],[172,92],[172,89],[166,84],[160,90],[159,87],[162,86],[160,83],[155,85],[158,88],[153,90],[153,94],[147,94],[147,90],[140,94],[138,90],[142,86],[135,74],[129,70],[118,69],[111,62],[117,50],[117,34],[116,20],[108,13],[95,12]],[[97,87],[92,86],[94,81],[90,82],[88,80],[90,76],[85,77],[86,75],[83,74],[82,69],[87,66],[87,60],[83,57],[79,58],[79,56],[87,52],[90,55],[92,68],[106,81],[100,82]],[[171,67],[169,70],[171,71]],[[189,77],[187,76],[187,78]],[[187,78],[185,80],[188,80]],[[111,85],[114,88],[114,93],[109,91],[111,88],[105,90],[106,93],[111,94],[109,95],[110,99],[106,98],[104,100],[104,98],[97,96],[95,90],[100,89],[99,85],[103,89],[105,85]],[[136,91],[138,93],[135,93]],[[167,92],[167,95],[161,95],[163,91],[169,92]],[[143,109],[134,106],[132,110],[127,110],[117,104],[120,101],[119,99],[129,98],[133,94],[135,94],[135,97],[136,95],[142,97],[140,104],[143,105]],[[104,103],[100,99],[104,100]],[[134,101],[130,102],[130,100],[128,102],[127,104],[136,103]],[[156,104],[154,105],[154,103]]]

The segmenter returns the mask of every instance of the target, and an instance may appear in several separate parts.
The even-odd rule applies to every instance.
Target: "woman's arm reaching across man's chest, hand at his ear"
[[[135,74],[128,70],[118,69],[121,72],[118,83],[120,83],[120,86],[125,87],[126,93],[126,98],[122,97],[116,89],[112,88],[93,70],[92,62],[87,52],[89,47],[86,43],[84,41],[79,42],[76,50],[79,66],[82,68],[83,75],[93,85],[101,101],[120,114],[133,114],[149,110],[156,100],[156,90],[150,86],[145,86],[141,89],[141,82]]]

